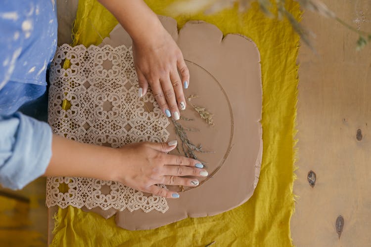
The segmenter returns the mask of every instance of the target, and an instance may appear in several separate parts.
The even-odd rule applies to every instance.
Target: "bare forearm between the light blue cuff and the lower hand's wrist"
[[[111,180],[113,172],[111,166],[118,162],[120,162],[118,150],[53,135],[52,156],[44,175]]]

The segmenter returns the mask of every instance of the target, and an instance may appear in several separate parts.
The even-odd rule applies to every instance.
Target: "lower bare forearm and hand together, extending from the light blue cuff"
[[[194,187],[199,181],[183,176],[206,177],[208,173],[196,160],[166,154],[176,146],[176,141],[139,142],[114,149],[53,135],[52,156],[44,175],[113,180],[139,191],[178,198],[177,192],[156,184]]]

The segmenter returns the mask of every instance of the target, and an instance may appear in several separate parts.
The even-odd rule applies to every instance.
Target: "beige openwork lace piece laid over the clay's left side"
[[[138,96],[132,47],[63,44],[57,48],[49,79],[48,122],[55,134],[113,148],[139,141],[163,142],[169,137],[169,121],[151,91]],[[67,192],[60,189],[62,184]],[[145,212],[169,208],[165,198],[145,196],[119,182],[48,177],[46,206],[55,205]]]

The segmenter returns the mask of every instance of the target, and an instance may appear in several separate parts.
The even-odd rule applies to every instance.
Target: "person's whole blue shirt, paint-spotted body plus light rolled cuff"
[[[0,183],[20,189],[45,173],[50,127],[16,112],[46,91],[57,41],[55,0],[0,1]]]

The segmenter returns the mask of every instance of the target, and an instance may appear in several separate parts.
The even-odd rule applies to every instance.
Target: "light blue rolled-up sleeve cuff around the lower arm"
[[[45,173],[51,158],[48,124],[19,112],[0,116],[0,184],[22,189]]]

